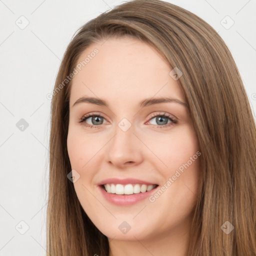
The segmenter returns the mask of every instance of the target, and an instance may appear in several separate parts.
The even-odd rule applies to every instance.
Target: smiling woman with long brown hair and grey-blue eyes
[[[256,255],[255,122],[205,21],[116,6],[72,38],[52,95],[49,255]]]

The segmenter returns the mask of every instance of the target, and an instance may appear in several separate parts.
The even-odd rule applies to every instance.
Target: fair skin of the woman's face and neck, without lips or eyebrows
[[[169,75],[172,68],[152,46],[130,37],[103,41],[84,50],[77,63],[94,48],[99,52],[72,79],[67,149],[71,167],[80,175],[73,183],[77,197],[108,237],[109,256],[185,256],[199,160],[184,168],[171,185],[166,181],[199,150],[188,108],[175,101],[139,106],[141,100],[156,97],[186,103],[184,94]],[[82,96],[104,99],[108,106],[74,104]],[[92,113],[96,120],[78,122]],[[164,113],[177,123],[168,118],[157,121]],[[128,122],[122,124],[130,124],[125,131],[118,126],[123,118]],[[149,191],[151,201],[147,196],[119,205],[106,200],[98,186],[112,177],[136,178],[158,187]],[[152,195],[164,184],[167,188],[153,201]],[[130,226],[126,233],[118,228],[123,221]]]

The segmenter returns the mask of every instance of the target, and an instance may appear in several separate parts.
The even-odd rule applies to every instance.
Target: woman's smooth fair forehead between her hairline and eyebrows
[[[83,95],[114,102],[154,95],[184,100],[178,81],[169,75],[172,67],[155,48],[136,38],[93,43],[79,56],[79,63],[83,65],[72,79],[70,103]]]

